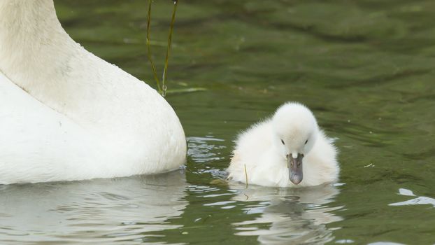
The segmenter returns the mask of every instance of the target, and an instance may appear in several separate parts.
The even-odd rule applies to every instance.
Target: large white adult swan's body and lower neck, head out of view
[[[52,0],[0,1],[0,184],[156,174],[185,155],[171,106],[73,41]]]

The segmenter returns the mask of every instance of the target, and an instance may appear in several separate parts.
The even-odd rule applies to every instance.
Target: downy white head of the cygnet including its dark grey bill
[[[274,144],[287,158],[290,181],[297,185],[303,179],[304,155],[311,151],[318,136],[318,123],[306,106],[288,102],[276,110],[272,124]]]

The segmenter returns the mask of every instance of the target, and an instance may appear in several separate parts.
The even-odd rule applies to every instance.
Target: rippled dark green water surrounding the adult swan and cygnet
[[[55,1],[76,41],[155,86],[146,1]],[[155,1],[162,72],[171,1]],[[169,94],[185,172],[0,187],[2,244],[434,244],[433,1],[180,1]],[[337,186],[215,181],[236,134],[286,101],[340,149]]]

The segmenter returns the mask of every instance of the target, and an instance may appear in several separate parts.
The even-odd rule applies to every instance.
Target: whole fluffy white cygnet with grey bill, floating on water
[[[236,140],[228,179],[260,186],[317,186],[335,182],[336,148],[306,106],[288,102]]]

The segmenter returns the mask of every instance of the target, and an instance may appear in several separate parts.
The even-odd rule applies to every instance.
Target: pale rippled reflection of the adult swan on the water
[[[0,186],[0,244],[143,239],[187,205],[185,175]],[[150,233],[151,232],[151,233]]]

